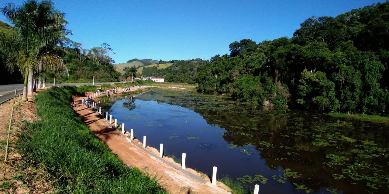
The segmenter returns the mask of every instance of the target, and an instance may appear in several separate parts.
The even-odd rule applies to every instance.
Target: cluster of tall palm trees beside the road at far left
[[[8,3],[0,10],[16,29],[11,36],[0,32],[0,51],[7,54],[10,69],[18,68],[25,75],[23,100],[27,100],[27,94],[32,94],[34,73],[42,69],[67,73],[52,50],[68,34],[68,23],[50,1],[28,0],[22,6]]]

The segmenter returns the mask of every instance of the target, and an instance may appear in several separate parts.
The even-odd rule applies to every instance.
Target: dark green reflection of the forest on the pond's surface
[[[350,178],[335,180],[331,176],[342,174],[342,168],[357,161],[356,156],[343,154],[350,158],[350,161],[343,166],[323,164],[330,161],[325,154],[342,155],[341,152],[350,152],[350,149],[355,148],[353,144],[338,140],[340,135],[357,139],[359,142],[374,140],[380,147],[388,147],[388,133],[383,130],[386,125],[286,109],[267,111],[263,106],[232,103],[225,99],[190,92],[149,92],[138,98],[166,102],[199,113],[210,125],[225,129],[223,139],[226,142],[238,146],[253,145],[252,149],[260,151],[259,157],[265,159],[265,164],[270,169],[289,168],[302,174],[300,178],[288,178],[290,184],[304,184],[316,192],[324,187],[342,189],[343,193],[372,191],[366,187],[366,182],[353,182]],[[124,102],[130,110],[135,108],[133,100],[135,99]],[[319,135],[319,139],[327,143],[333,140],[331,137],[335,135],[336,143],[314,145],[312,143],[318,139],[315,135]],[[271,142],[271,144],[264,147],[260,142]],[[340,147],[335,147],[334,144]],[[372,159],[365,161],[382,165],[382,161],[377,162]],[[383,164],[386,162],[384,161]],[[378,191],[372,192],[384,193],[385,191],[384,187],[381,187]]]

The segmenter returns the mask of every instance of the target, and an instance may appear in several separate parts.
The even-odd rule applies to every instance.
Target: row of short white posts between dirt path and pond
[[[147,86],[145,86],[145,87],[147,87]],[[98,95],[98,92],[96,92],[96,93],[97,93],[96,95]],[[92,107],[96,108],[95,102],[93,102]],[[97,109],[96,109],[96,111],[97,111]],[[101,114],[101,107],[99,107],[98,113]],[[102,116],[104,118],[104,114]],[[105,120],[108,121],[108,112],[105,112]],[[114,127],[115,127],[115,129],[117,129],[117,119],[115,119],[114,122],[115,122]],[[111,114],[109,115],[109,123],[112,124],[112,115]],[[121,132],[123,134],[125,132],[124,123],[122,123],[122,125],[121,125]],[[131,129],[131,131],[130,131],[130,140],[131,141],[133,140],[133,134],[134,134],[133,132],[134,132],[133,129]],[[143,148],[146,148],[146,136],[143,136]],[[163,158],[163,144],[159,144],[159,157]],[[181,168],[184,170],[185,170],[185,163],[186,163],[186,153],[182,153]],[[213,170],[212,170],[212,185],[216,185],[216,175],[217,175],[217,167],[214,166]],[[254,186],[254,194],[259,194],[259,185],[257,185],[257,184]]]

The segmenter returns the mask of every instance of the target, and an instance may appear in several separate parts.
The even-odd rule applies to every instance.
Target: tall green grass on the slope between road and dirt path
[[[156,178],[128,168],[69,106],[75,87],[52,87],[35,97],[40,121],[28,123],[19,148],[46,166],[60,193],[166,193]]]

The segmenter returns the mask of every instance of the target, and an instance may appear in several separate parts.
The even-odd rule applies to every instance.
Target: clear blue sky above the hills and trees
[[[22,0],[2,0],[21,5]],[[230,43],[291,38],[312,16],[337,16],[385,0],[53,0],[69,38],[83,48],[108,43],[117,63],[130,59],[210,59]],[[6,23],[3,15],[0,20]]]

